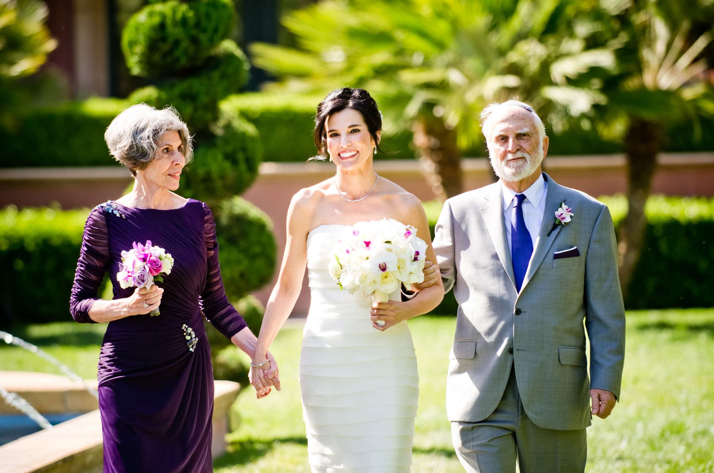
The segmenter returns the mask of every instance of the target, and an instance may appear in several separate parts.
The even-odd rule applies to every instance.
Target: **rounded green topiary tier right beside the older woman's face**
[[[198,143],[183,173],[184,197],[215,202],[241,194],[258,175],[263,150],[258,131],[240,115],[221,108],[208,141]]]

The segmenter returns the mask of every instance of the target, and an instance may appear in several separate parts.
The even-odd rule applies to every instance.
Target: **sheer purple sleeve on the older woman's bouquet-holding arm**
[[[109,233],[106,228],[106,214],[96,208],[89,212],[84,224],[79,261],[74,274],[69,311],[79,323],[96,323],[89,317],[89,308],[99,299],[97,293],[109,269]]]

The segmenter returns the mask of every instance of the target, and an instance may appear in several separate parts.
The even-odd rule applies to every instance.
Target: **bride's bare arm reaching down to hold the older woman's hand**
[[[288,208],[286,223],[287,239],[283,262],[270,298],[266,305],[265,316],[258,336],[256,349],[251,357],[251,364],[258,365],[267,360],[268,348],[278,335],[278,331],[287,320],[295,306],[303,285],[303,276],[307,261],[308,225],[311,223],[310,197],[306,192],[298,192],[293,196]],[[262,368],[251,368],[251,383],[258,394],[267,394],[269,385],[274,380],[278,387],[278,367],[274,362],[268,362]],[[264,377],[267,377],[266,380]]]

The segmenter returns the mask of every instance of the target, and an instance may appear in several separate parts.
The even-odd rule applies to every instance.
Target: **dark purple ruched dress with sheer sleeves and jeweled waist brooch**
[[[223,290],[208,206],[188,199],[180,209],[136,209],[110,201],[93,209],[70,310],[75,321],[93,322],[89,308],[106,271],[114,298],[130,296],[134,288],[116,282],[121,251],[146,240],[171,253],[174,268],[160,284],[161,315],[129,316],[106,328],[97,375],[104,472],[212,472],[213,368],[201,312],[228,338],[246,323]],[[186,340],[183,324],[196,341]]]

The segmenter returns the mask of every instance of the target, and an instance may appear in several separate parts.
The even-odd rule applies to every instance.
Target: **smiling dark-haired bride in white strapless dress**
[[[299,377],[312,471],[409,472],[418,373],[406,320],[441,302],[437,266],[426,263],[420,287],[431,286],[421,296],[402,302],[396,291],[370,308],[341,291],[328,273],[328,256],[349,225],[386,217],[416,227],[428,244],[426,259],[436,261],[426,214],[413,194],[373,170],[382,118],[366,90],[333,90],[318,105],[315,121],[315,145],[337,172],[291,200],[286,249],[251,360],[251,383],[258,397],[273,385],[279,389],[277,367],[266,353],[298,298],[307,266],[311,305]]]

